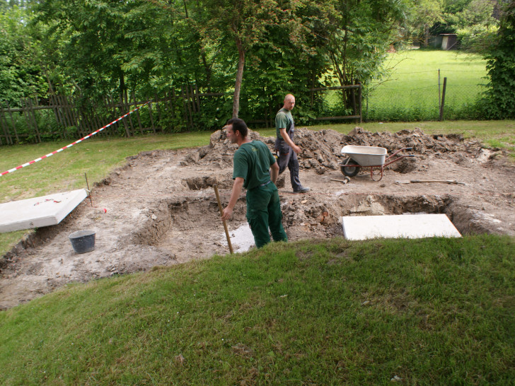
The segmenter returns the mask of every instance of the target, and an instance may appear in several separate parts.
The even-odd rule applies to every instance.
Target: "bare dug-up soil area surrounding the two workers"
[[[289,240],[342,236],[342,216],[420,212],[447,214],[462,234],[515,235],[515,165],[502,150],[456,135],[428,136],[419,129],[297,133],[296,143],[303,148],[301,182],[311,192],[292,194],[288,171],[279,178]],[[272,149],[273,138],[261,138],[255,131],[251,137]],[[338,163],[346,144],[381,146],[389,153],[412,147],[400,154],[415,157],[386,167],[379,182],[371,179],[369,168],[361,168],[343,184],[332,179],[344,180]],[[93,205],[86,199],[62,223],[31,232],[0,259],[0,309],[70,282],[227,254],[212,186],[218,184],[225,205],[235,150],[225,133],[216,131],[209,146],[127,158],[125,167],[92,189]],[[243,224],[244,192],[228,228],[231,232]],[[77,254],[68,236],[86,229],[96,231],[95,250]]]

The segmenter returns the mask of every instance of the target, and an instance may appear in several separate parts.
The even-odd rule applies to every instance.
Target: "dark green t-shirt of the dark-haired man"
[[[242,177],[243,187],[252,189],[270,181],[270,166],[275,163],[270,149],[261,141],[242,144],[234,153],[233,180]]]

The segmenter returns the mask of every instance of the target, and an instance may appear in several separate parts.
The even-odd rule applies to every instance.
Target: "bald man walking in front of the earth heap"
[[[279,175],[286,170],[290,172],[291,187],[294,193],[307,193],[308,187],[303,187],[299,180],[299,160],[297,154],[301,152],[301,148],[294,144],[295,124],[294,118],[291,116],[291,110],[295,106],[294,95],[288,94],[284,97],[284,105],[275,116],[275,129],[277,139],[275,140],[275,150],[279,157]]]

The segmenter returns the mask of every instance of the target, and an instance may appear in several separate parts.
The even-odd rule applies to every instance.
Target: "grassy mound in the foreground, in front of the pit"
[[[510,384],[515,243],[274,243],[0,313],[0,382]]]

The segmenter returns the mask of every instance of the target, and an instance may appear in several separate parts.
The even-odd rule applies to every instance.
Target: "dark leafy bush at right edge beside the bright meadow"
[[[497,43],[486,55],[490,78],[485,95],[485,114],[490,118],[515,117],[515,2],[505,6]]]

